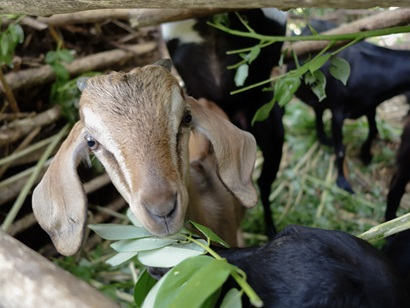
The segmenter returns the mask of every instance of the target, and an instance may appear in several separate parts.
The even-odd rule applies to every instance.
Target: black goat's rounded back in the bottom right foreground
[[[264,246],[218,253],[245,271],[264,307],[410,307],[404,281],[389,260],[341,231],[288,226]],[[235,284],[228,280],[221,294]],[[243,306],[250,307],[247,298]]]

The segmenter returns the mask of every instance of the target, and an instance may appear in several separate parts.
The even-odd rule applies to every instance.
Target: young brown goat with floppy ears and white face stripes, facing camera
[[[208,158],[192,162],[193,169],[203,167],[215,179],[212,183],[218,178],[240,204],[256,204],[251,180],[255,139],[186,97],[170,69],[171,61],[163,60],[129,73],[114,72],[79,82],[83,91],[80,121],[33,193],[34,214],[61,254],[74,254],[83,240],[87,200],[76,169],[88,148],[102,162],[134,215],[158,236],[178,232],[187,218],[216,233],[227,228],[224,220],[212,218],[214,207],[200,208],[208,204],[201,199],[197,178],[191,178],[196,172],[190,170],[191,132],[206,136],[207,149],[212,149],[209,159],[214,160],[212,172],[206,170]],[[219,206],[224,207],[224,202]],[[236,238],[236,229],[230,232]]]

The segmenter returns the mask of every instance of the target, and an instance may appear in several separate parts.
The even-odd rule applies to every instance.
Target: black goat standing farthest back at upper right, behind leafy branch
[[[321,22],[318,32],[334,27],[331,23]],[[307,34],[307,32],[304,32]],[[337,185],[346,191],[353,192],[344,174],[345,147],[343,144],[343,122],[345,119],[357,119],[366,116],[369,133],[363,143],[360,158],[364,163],[372,159],[371,145],[378,134],[376,125],[376,108],[385,100],[410,90],[410,50],[392,50],[368,42],[359,42],[338,55],[350,64],[351,73],[344,86],[329,73],[327,62],[321,71],[326,76],[326,98],[319,102],[309,86],[302,83],[296,96],[313,107],[316,114],[316,129],[319,140],[324,144],[333,144],[337,162]],[[294,69],[293,63],[288,70]],[[323,112],[330,109],[332,113],[330,140],[323,129]]]

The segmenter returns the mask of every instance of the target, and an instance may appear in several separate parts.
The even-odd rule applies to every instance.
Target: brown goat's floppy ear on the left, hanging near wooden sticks
[[[87,197],[77,166],[88,155],[83,125],[77,122],[33,192],[33,212],[57,251],[73,255],[81,247],[87,219]]]

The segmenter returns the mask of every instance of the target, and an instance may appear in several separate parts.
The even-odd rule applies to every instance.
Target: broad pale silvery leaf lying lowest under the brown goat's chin
[[[206,245],[206,241],[201,241]],[[195,243],[174,244],[161,249],[145,250],[138,253],[138,260],[150,267],[173,267],[187,258],[201,255],[205,249]]]

